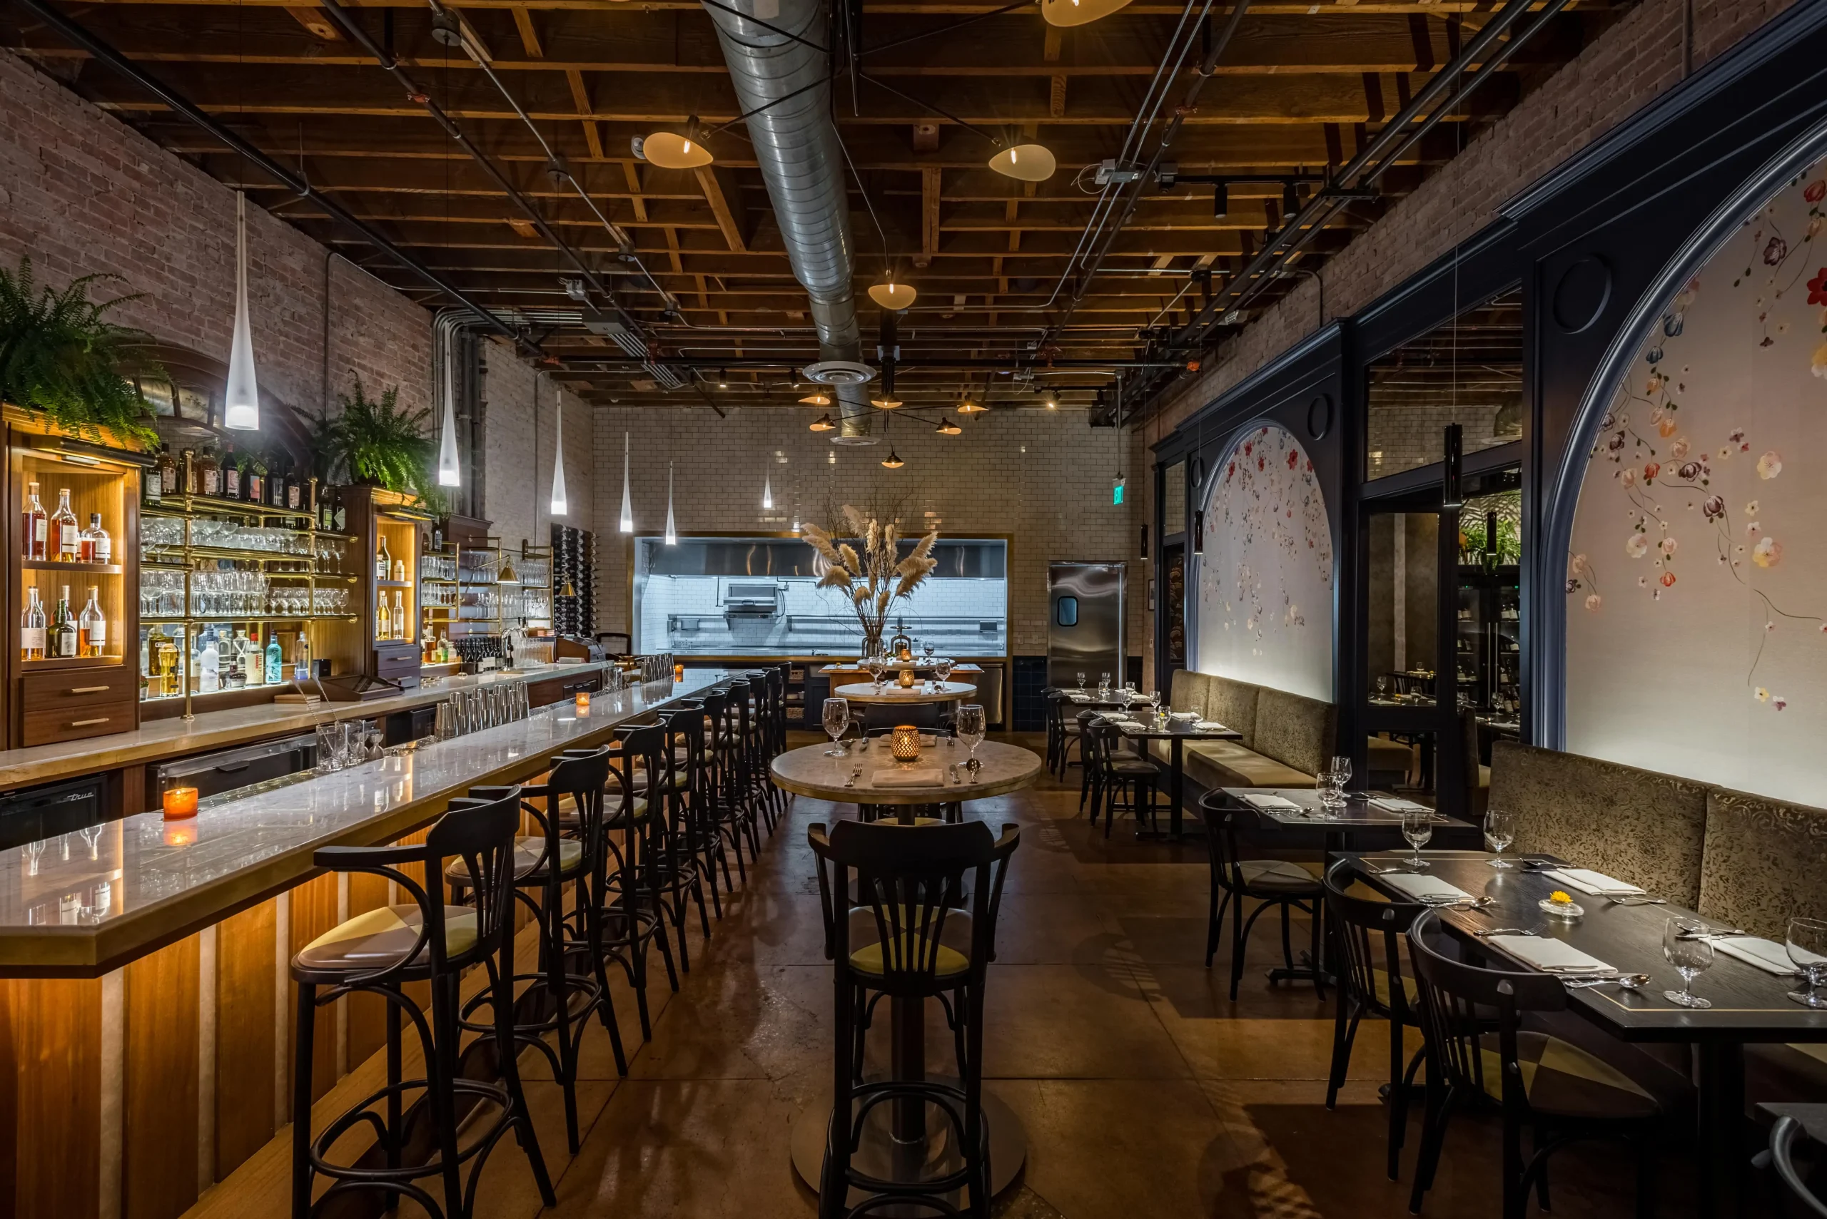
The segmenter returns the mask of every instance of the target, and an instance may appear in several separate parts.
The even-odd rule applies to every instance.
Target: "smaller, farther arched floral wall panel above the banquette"
[[[1332,526],[1314,462],[1286,429],[1244,431],[1206,500],[1199,664],[1332,701]]]

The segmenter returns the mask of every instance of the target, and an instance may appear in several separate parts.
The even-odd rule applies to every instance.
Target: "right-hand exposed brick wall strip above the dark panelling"
[[[1694,0],[1694,66],[1794,0]],[[1496,219],[1496,210],[1683,78],[1683,0],[1641,0],[1420,190],[1326,261],[1326,316],[1352,314]],[[1158,440],[1314,330],[1319,287],[1299,287],[1224,343],[1147,425]]]

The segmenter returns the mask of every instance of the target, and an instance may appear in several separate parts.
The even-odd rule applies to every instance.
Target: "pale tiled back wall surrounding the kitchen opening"
[[[811,432],[811,412],[778,407],[709,407],[596,412],[597,630],[627,630],[628,546],[616,533],[621,513],[621,436],[630,432],[634,526],[660,533],[667,520],[667,460],[676,464],[674,518],[680,533],[786,531],[802,522],[829,524],[826,504],[868,505],[904,495],[906,526],[934,520],[941,535],[1014,535],[1010,569],[1010,651],[1047,651],[1047,562],[1054,558],[1129,562],[1129,651],[1142,648],[1147,577],[1136,564],[1136,526],[1146,516],[1136,495],[1146,476],[1135,436],[1122,442],[1085,425],[1078,411],[990,411],[963,436],[935,436],[906,420],[892,432],[906,460],[881,467],[886,445],[851,449]],[[566,416],[566,427],[570,418]],[[1129,474],[1129,502],[1111,505],[1118,443]],[[1023,453],[1025,447],[1025,453]],[[835,464],[831,462],[835,454]],[[775,511],[762,511],[762,474],[773,476]],[[934,516],[928,518],[928,513]]]

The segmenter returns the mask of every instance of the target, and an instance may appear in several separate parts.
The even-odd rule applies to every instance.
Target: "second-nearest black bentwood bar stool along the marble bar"
[[[544,783],[519,788],[477,787],[477,799],[504,799],[519,792],[521,812],[537,832],[515,841],[513,894],[539,925],[539,967],[513,978],[513,1037],[546,1057],[552,1078],[565,1091],[565,1139],[577,1153],[577,1053],[590,1015],[608,1031],[616,1071],[628,1073],[621,1027],[603,969],[603,914],[590,901],[586,878],[603,850],[603,785],[608,781],[608,750],[561,754]],[[533,801],[544,801],[544,810]],[[563,805],[570,803],[565,816]],[[470,874],[464,860],[444,867],[453,892],[479,889],[486,878]],[[574,909],[566,911],[566,891]],[[523,987],[523,989],[521,989]],[[464,1027],[482,1031],[493,1024],[499,991],[490,989],[464,1004]],[[512,995],[512,989],[510,989]],[[479,1020],[477,1013],[488,1020]],[[546,1040],[552,1037],[557,1044]]]

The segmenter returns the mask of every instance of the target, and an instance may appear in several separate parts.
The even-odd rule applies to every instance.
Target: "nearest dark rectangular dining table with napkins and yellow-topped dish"
[[[1354,854],[1357,878],[1379,892],[1405,898],[1383,876],[1365,867],[1399,863],[1401,854]],[[1827,1042],[1827,1013],[1803,1007],[1789,998],[1794,978],[1781,978],[1717,953],[1706,973],[1694,982],[1694,993],[1712,1000],[1712,1007],[1681,1007],[1663,991],[1681,985],[1679,974],[1663,960],[1663,927],[1674,916],[1701,918],[1672,901],[1630,905],[1575,892],[1586,907],[1584,918],[1562,922],[1542,914],[1538,901],[1553,892],[1555,880],[1538,870],[1494,869],[1482,850],[1427,850],[1427,874],[1458,885],[1474,898],[1494,898],[1480,911],[1442,909],[1442,925],[1467,945],[1502,960],[1505,967],[1531,969],[1526,962],[1485,943],[1474,932],[1484,927],[1529,927],[1538,936],[1568,942],[1624,973],[1648,973],[1642,991],[1622,987],[1584,987],[1568,991],[1569,1011],[1591,1020],[1624,1042],[1688,1042],[1697,1053],[1699,1086],[1699,1214],[1717,1219],[1750,1215],[1741,1141],[1745,1120],[1745,1046],[1752,1042]],[[1522,856],[1560,865],[1549,856]],[[1568,865],[1580,867],[1584,865]],[[1602,863],[1599,863],[1602,870]],[[1657,894],[1650,894],[1657,896]],[[1716,927],[1725,925],[1703,920]]]

